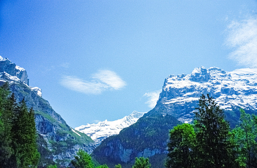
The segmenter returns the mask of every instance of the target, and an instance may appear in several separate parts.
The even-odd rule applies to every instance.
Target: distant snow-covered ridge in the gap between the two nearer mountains
[[[75,130],[83,132],[90,136],[97,145],[105,138],[119,134],[123,128],[134,124],[145,113],[134,111],[128,116],[115,121],[100,121],[97,124],[87,124],[76,127]]]

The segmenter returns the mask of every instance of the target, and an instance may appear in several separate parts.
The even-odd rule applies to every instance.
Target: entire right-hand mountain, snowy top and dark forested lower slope
[[[256,82],[257,68],[225,72],[215,67],[209,69],[200,67],[195,68],[188,75],[170,75],[164,81],[154,109],[135,124],[123,129],[120,134],[106,138],[93,151],[93,156],[100,163],[104,160],[108,165],[120,163],[123,167],[129,167],[136,156],[143,155],[150,157],[150,161],[152,160],[152,164],[155,165],[153,167],[164,167],[168,130],[179,121],[192,121],[193,112],[198,106],[201,94],[209,93],[216,99],[218,105],[224,109],[226,119],[233,127],[239,119],[239,108],[244,108],[248,113],[256,112]],[[166,117],[170,119],[166,120]],[[149,118],[154,118],[154,120],[149,121]],[[163,122],[154,126],[159,120]],[[143,134],[138,130],[143,130]],[[156,145],[153,147],[152,144]]]

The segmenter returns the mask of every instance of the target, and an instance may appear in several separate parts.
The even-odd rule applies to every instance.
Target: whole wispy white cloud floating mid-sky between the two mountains
[[[126,85],[115,72],[109,70],[99,71],[90,81],[75,76],[64,76],[61,84],[68,89],[85,94],[101,94],[105,90],[118,90]]]

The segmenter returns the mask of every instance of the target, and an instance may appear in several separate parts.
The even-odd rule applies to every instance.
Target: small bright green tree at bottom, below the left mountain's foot
[[[91,156],[82,149],[79,149],[75,160],[72,160],[72,164],[75,168],[93,168],[94,163]]]

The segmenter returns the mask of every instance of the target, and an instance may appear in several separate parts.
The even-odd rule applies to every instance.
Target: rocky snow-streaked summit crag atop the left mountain
[[[0,81],[8,81],[10,84],[13,82],[24,83],[31,90],[35,91],[39,96],[42,96],[42,91],[38,87],[29,86],[29,79],[27,71],[24,68],[17,66],[15,63],[12,63],[8,58],[3,58],[0,56]]]

